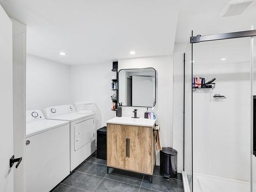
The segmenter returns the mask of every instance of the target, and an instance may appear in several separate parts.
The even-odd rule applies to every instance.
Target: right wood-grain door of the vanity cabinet
[[[153,174],[153,130],[152,127],[129,126],[129,169]]]

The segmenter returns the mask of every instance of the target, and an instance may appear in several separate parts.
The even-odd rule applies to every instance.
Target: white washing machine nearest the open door
[[[46,192],[70,174],[69,122],[27,111],[25,191]]]

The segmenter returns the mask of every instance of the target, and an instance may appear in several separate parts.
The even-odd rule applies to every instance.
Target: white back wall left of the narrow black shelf
[[[101,124],[97,129],[106,125],[106,121],[115,117],[111,111],[111,79],[116,72],[112,72],[112,62],[94,65],[71,66],[72,102],[95,102],[101,112]]]

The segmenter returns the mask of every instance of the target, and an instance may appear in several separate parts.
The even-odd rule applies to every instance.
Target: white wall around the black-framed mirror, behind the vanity
[[[141,57],[118,60],[118,70],[155,68],[157,124],[160,125],[162,146],[173,145],[173,56]],[[136,107],[137,108],[137,107]],[[123,106],[122,115],[132,117],[134,107]],[[146,108],[137,108],[137,116],[144,117]],[[151,110],[151,109],[150,109]],[[159,157],[157,157],[159,158]],[[157,159],[158,161],[159,159]],[[157,162],[158,164],[159,162]]]

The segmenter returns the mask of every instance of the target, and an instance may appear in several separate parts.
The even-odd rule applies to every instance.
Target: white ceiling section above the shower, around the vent
[[[220,17],[228,0],[180,0],[175,43],[188,42],[191,30],[194,36],[250,30],[256,27],[256,1],[244,13]]]

